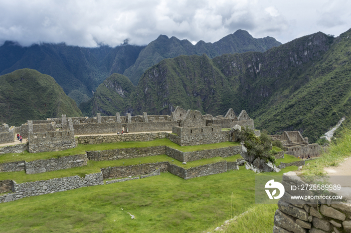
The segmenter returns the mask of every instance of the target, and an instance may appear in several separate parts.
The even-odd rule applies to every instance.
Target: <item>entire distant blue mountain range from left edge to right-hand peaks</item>
[[[269,36],[253,38],[244,30],[238,30],[215,43],[200,41],[196,45],[165,35],[160,35],[147,46],[124,44],[113,48],[106,45],[95,48],[69,46],[65,43],[23,47],[6,41],[0,46],[0,75],[21,68],[36,69],[54,77],[65,93],[79,105],[88,101],[98,85],[112,73],[124,73],[136,85],[142,73],[163,58],[181,54],[206,53],[214,57],[223,53],[265,51],[280,44]]]

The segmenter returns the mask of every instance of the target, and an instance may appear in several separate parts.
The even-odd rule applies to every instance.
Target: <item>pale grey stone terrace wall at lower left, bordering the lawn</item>
[[[37,196],[99,184],[104,184],[101,172],[87,174],[84,178],[75,175],[64,178],[55,178],[26,183],[14,182],[12,188],[13,193],[0,196],[0,202],[8,202],[27,196]]]

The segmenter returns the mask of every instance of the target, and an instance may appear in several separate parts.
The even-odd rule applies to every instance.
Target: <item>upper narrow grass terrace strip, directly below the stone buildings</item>
[[[180,146],[170,141],[167,138],[156,139],[152,141],[123,141],[123,142],[112,142],[112,143],[101,143],[101,144],[78,144],[77,147],[72,149],[67,149],[64,151],[50,151],[50,152],[40,152],[40,153],[30,153],[24,151],[22,153],[6,153],[0,155],[0,163],[12,162],[12,161],[34,161],[38,159],[48,159],[53,157],[62,157],[74,154],[84,154],[85,151],[89,150],[106,150],[106,149],[118,149],[118,148],[131,148],[131,147],[150,147],[167,145],[169,147],[179,149],[181,151],[195,151],[204,149],[216,149],[228,146],[240,145],[239,142],[220,142],[205,145],[190,145],[190,146]]]

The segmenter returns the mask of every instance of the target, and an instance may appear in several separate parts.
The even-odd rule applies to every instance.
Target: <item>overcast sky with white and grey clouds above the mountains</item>
[[[147,44],[159,34],[215,42],[237,29],[285,43],[351,27],[350,0],[0,0],[0,44]]]

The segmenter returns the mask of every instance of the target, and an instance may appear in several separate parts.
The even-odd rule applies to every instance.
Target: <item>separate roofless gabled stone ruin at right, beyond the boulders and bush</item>
[[[303,137],[300,131],[284,131],[281,135],[271,135],[273,140],[280,140],[286,147],[285,153],[298,156],[318,156],[322,147],[317,143],[308,143],[308,138]]]

